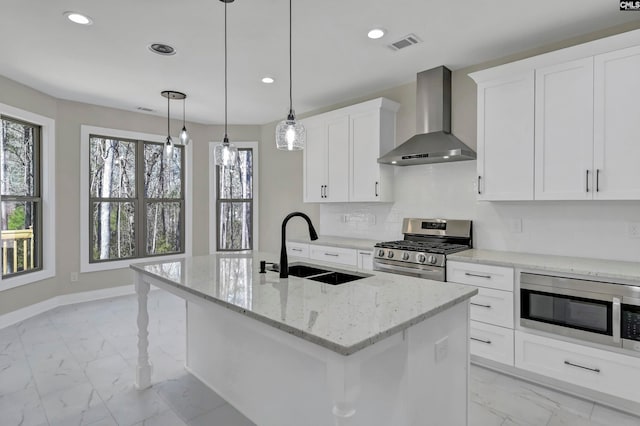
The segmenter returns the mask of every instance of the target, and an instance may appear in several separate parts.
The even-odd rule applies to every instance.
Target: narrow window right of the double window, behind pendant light
[[[239,167],[216,166],[218,251],[253,249],[253,149],[239,148]]]

